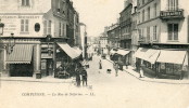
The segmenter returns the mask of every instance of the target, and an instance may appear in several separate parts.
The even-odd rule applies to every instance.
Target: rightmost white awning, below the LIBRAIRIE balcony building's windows
[[[156,62],[159,63],[171,63],[171,64],[184,64],[186,58],[186,51],[166,51],[161,50],[160,56]]]

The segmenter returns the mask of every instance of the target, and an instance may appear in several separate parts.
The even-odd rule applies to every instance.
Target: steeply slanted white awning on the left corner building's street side
[[[72,58],[77,58],[79,54],[76,53],[76,51],[71,48],[67,43],[58,43],[58,45]]]

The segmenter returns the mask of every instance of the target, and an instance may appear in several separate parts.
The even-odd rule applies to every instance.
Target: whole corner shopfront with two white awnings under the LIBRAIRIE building
[[[137,70],[142,66],[144,72],[150,76],[182,79],[188,75],[188,56],[186,51],[139,48],[135,56],[137,57]]]

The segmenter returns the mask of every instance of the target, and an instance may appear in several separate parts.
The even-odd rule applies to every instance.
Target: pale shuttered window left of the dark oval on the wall
[[[21,32],[28,32],[28,31],[29,31],[29,21],[21,19]]]

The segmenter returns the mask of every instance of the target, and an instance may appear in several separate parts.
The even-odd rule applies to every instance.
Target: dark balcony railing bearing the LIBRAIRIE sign
[[[161,11],[160,18],[161,19],[184,18],[184,10]]]

